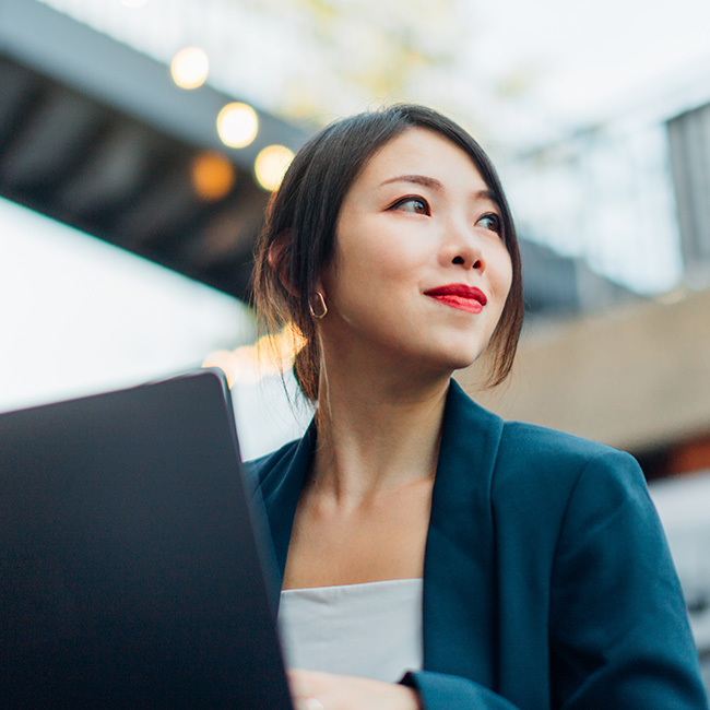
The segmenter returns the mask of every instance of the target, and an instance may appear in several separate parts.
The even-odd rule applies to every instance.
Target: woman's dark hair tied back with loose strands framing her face
[[[498,203],[512,285],[488,345],[488,384],[500,383],[512,367],[523,319],[522,275],[516,228],[496,169],[458,123],[424,106],[398,104],[335,121],[316,133],[296,153],[272,196],[257,241],[252,285],[259,322],[270,331],[288,323],[300,331],[305,345],[296,355],[294,374],[312,402],[318,399],[320,352],[309,301],[333,258],[343,200],[368,161],[411,128],[435,131],[464,151]]]

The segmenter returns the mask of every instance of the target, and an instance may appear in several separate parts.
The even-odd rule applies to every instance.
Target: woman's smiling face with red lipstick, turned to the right
[[[335,258],[320,283],[327,351],[365,347],[434,370],[471,365],[488,345],[512,280],[500,224],[488,186],[461,149],[421,128],[393,139],[343,201]]]

